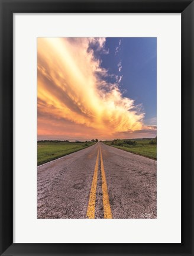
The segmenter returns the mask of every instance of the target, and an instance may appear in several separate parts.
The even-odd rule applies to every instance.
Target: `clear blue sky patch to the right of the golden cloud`
[[[108,54],[99,56],[102,68],[122,76],[119,87],[123,95],[135,100],[135,104],[142,104],[145,125],[156,125],[157,38],[106,38],[105,49]]]

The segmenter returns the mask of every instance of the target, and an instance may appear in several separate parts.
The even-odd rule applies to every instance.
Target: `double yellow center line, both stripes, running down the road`
[[[90,190],[87,216],[89,219],[95,219],[95,203],[96,203],[96,187],[97,187],[97,180],[98,180],[99,153],[101,156],[102,200],[104,205],[104,218],[112,219],[111,206],[110,206],[109,197],[108,197],[108,188],[106,184],[106,175],[105,175],[104,163],[102,159],[102,151],[100,146],[98,148],[98,154],[96,158],[96,164],[95,164],[93,180],[92,180],[92,187]]]

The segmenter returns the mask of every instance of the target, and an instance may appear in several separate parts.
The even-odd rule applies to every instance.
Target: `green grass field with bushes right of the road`
[[[119,142],[122,142],[122,140],[118,140]],[[142,155],[147,158],[151,159],[157,159],[157,145],[156,143],[150,144],[151,139],[132,139],[132,141],[136,142],[136,145],[128,145],[126,143],[118,143],[115,142],[114,145],[112,145],[112,140],[105,141],[104,143],[109,146],[114,146],[115,148],[122,149],[127,152],[135,153],[137,155]],[[154,140],[155,142],[155,140]],[[120,145],[119,145],[120,144]]]

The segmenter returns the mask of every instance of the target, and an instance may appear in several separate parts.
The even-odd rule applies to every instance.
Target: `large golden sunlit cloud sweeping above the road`
[[[105,38],[38,38],[38,136],[108,139],[143,129],[140,106],[105,81],[91,45],[108,53]]]

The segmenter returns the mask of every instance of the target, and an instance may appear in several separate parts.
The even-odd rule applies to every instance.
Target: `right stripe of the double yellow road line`
[[[111,212],[111,205],[109,202],[108,197],[108,188],[106,184],[106,175],[105,175],[105,169],[102,159],[102,151],[101,151],[101,175],[102,175],[102,199],[104,204],[104,218],[105,219],[112,219],[112,212]]]

